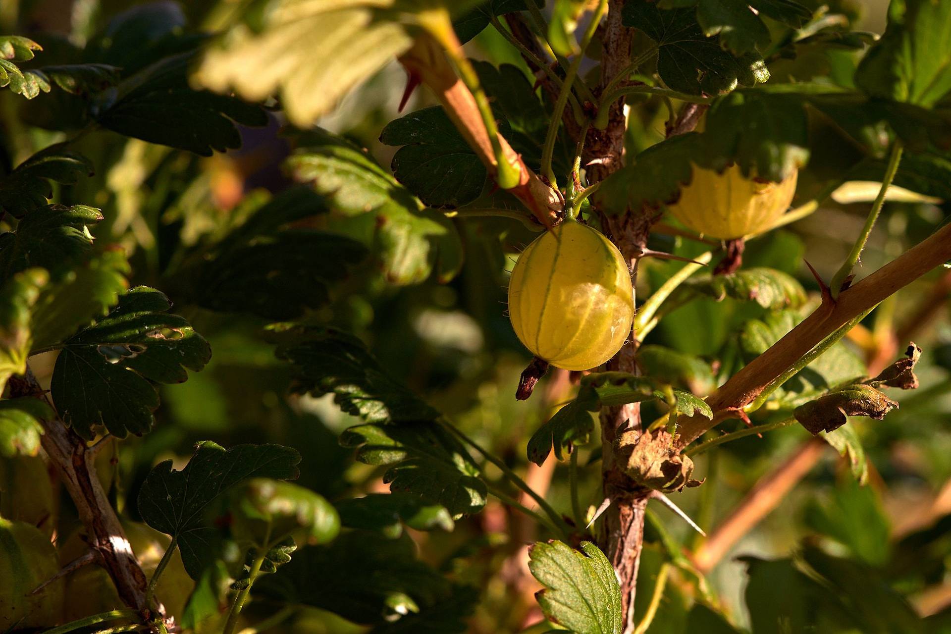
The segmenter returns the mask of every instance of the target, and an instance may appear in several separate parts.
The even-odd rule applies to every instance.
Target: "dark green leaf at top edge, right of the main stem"
[[[740,84],[765,82],[762,58],[738,59],[704,35],[692,9],[661,10],[649,0],[631,0],[622,10],[626,27],[635,27],[658,47],[657,73],[667,86],[689,94],[716,95]],[[756,67],[755,72],[750,68]]]

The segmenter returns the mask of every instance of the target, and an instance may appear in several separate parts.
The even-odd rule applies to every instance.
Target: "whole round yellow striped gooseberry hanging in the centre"
[[[580,222],[563,221],[515,262],[509,317],[525,347],[554,367],[597,367],[631,334],[628,266],[611,240]]]

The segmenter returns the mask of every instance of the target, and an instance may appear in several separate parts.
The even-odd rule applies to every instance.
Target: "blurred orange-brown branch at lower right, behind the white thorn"
[[[769,471],[747,493],[724,522],[712,530],[708,539],[693,554],[693,563],[707,573],[727,555],[729,550],[759,524],[786,498],[786,493],[812,471],[827,444],[822,438],[810,438],[783,463]]]

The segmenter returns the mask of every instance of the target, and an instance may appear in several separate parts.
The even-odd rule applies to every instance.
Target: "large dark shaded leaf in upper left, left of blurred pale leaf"
[[[186,51],[143,68],[100,98],[96,121],[120,134],[202,156],[241,146],[238,124],[265,125],[259,106],[188,83],[196,53]]]

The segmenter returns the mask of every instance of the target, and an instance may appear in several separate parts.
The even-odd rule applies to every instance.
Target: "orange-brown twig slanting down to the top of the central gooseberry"
[[[476,98],[469,88],[456,76],[443,49],[427,35],[417,37],[413,48],[399,58],[399,62],[436,95],[438,102],[462,134],[466,143],[485,164],[490,176],[495,179],[497,164],[489,133],[486,130]],[[502,135],[498,135],[507,163],[517,165],[518,183],[508,189],[518,200],[524,202],[535,218],[545,226],[552,226],[562,208],[559,193],[543,183],[538,175],[522,161]]]

